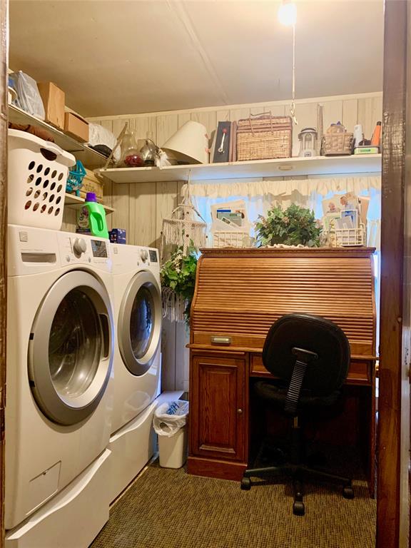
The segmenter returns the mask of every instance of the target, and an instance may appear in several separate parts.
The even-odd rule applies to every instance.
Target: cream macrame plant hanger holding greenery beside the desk
[[[201,220],[196,220],[195,215]],[[205,228],[207,223],[191,203],[190,198],[190,173],[183,201],[171,212],[170,218],[163,219],[161,230],[161,263],[163,264],[166,253],[166,245],[177,245],[181,248],[176,256],[176,268],[179,267],[181,257],[188,254],[188,249],[196,249],[205,246]],[[163,318],[172,322],[186,320],[187,301],[171,288],[162,288]]]

